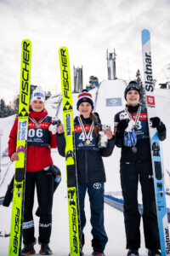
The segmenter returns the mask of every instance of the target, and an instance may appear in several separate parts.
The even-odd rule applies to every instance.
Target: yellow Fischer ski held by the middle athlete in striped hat
[[[59,66],[63,102],[63,123],[65,130],[65,165],[70,232],[70,255],[80,256],[82,242],[80,232],[79,204],[77,193],[77,166],[74,148],[74,120],[71,95],[71,73],[68,49],[59,48]]]

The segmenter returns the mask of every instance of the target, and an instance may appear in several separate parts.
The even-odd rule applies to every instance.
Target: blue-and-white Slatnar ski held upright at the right
[[[152,62],[150,49],[150,32],[142,31],[142,55],[144,65],[144,87],[146,93],[146,104],[148,120],[151,117],[156,117],[156,102],[154,93],[154,84],[152,76]],[[150,123],[150,122],[148,122]],[[150,150],[152,157],[152,168],[155,183],[157,218],[159,226],[159,236],[161,243],[161,256],[170,255],[170,239],[167,221],[167,204],[164,188],[164,177],[161,160],[160,141],[156,128],[149,125],[150,131]]]

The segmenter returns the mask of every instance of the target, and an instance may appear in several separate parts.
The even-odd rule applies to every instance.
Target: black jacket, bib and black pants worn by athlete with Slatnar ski
[[[128,113],[135,120],[138,106],[127,106]],[[118,125],[121,111],[115,115],[115,126]],[[166,138],[166,128],[161,123],[159,139]],[[121,184],[124,199],[124,222],[127,236],[127,248],[140,247],[140,214],[138,209],[138,183],[140,182],[143,200],[143,224],[145,247],[150,250],[160,249],[159,231],[156,215],[156,199],[150,154],[150,138],[147,121],[147,110],[141,108],[137,134],[137,152],[132,147],[123,145],[123,135],[116,131],[116,146],[122,148]]]

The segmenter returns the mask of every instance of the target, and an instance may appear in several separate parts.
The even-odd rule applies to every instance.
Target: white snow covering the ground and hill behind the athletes
[[[103,124],[110,124],[112,129],[114,126],[115,113],[122,110],[124,107],[124,89],[126,83],[122,80],[103,81],[99,85],[99,90],[95,88],[90,90],[93,95],[95,107],[94,111],[99,113],[99,117]],[[120,98],[122,106],[120,104]],[[110,101],[106,101],[110,99]],[[107,106],[106,106],[107,103]],[[156,106],[157,116],[161,117],[161,120],[167,126],[167,140],[161,143],[163,164],[164,164],[164,175],[166,188],[170,189],[170,177],[167,172],[170,172],[170,160],[168,146],[170,144],[170,90],[167,89],[156,89]],[[74,115],[77,114],[77,93],[73,93],[73,107]],[[111,105],[112,104],[112,105]],[[60,95],[51,97],[46,102],[46,108],[51,116],[57,114],[59,119],[62,118],[62,102],[60,102]],[[8,135],[14,124],[15,116],[0,119],[0,127],[3,131],[1,136],[1,164],[2,173],[0,178],[0,197],[6,192],[8,183],[14,174],[14,163],[11,163],[8,157],[3,156],[3,152],[8,148]],[[104,158],[105,172],[107,182],[105,183],[105,192],[115,191],[117,195],[120,194],[121,184],[119,177],[119,160],[120,160],[120,148],[115,148],[113,154],[109,158]],[[68,255],[69,253],[69,230],[68,230],[68,211],[67,211],[67,199],[66,199],[66,177],[65,177],[65,159],[59,156],[58,150],[52,150],[52,157],[54,164],[59,166],[62,172],[62,181],[59,184],[59,188],[54,194],[54,207],[53,207],[53,230],[50,241],[50,247],[54,252],[54,255]],[[141,202],[141,193],[139,188],[139,202]],[[167,207],[170,207],[169,197],[167,198]],[[11,208],[0,206],[0,231],[10,232],[10,219],[11,219]],[[34,212],[37,209],[37,197],[35,196],[35,207]],[[85,255],[91,255],[91,224],[90,224],[90,210],[88,195],[86,197],[86,214],[87,214],[87,225],[85,227],[85,245],[83,252]],[[34,222],[36,227],[36,237],[38,237],[38,218],[34,215]],[[124,220],[122,212],[117,211],[115,208],[105,204],[105,230],[109,237],[109,241],[105,247],[106,256],[122,256],[127,254],[126,250],[126,237],[124,229]],[[8,237],[0,236],[0,256],[8,255]],[[39,245],[35,246],[36,252],[39,252]],[[140,255],[146,255],[146,249],[144,248],[144,236],[143,226],[141,222],[141,248],[139,250]],[[38,254],[37,254],[38,255]]]

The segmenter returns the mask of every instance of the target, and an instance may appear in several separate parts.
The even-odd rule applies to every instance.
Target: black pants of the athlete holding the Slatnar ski
[[[122,195],[124,199],[124,222],[127,248],[140,247],[140,214],[138,210],[138,183],[141,184],[143,200],[143,223],[145,247],[159,249],[159,230],[156,214],[155,189],[151,162],[121,163]]]

